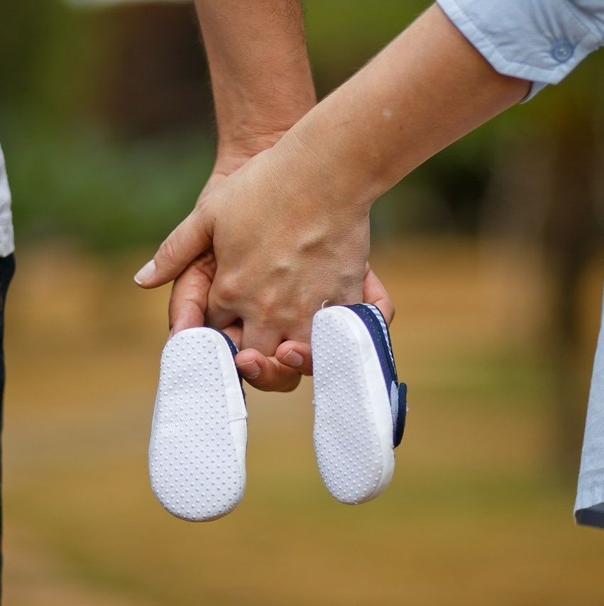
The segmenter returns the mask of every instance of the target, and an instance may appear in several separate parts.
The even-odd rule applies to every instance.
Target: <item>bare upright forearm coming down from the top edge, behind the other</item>
[[[196,0],[219,156],[252,156],[316,102],[300,0]]]

